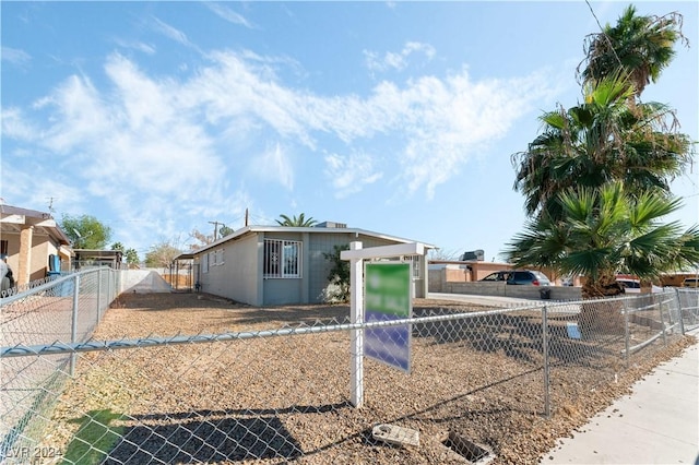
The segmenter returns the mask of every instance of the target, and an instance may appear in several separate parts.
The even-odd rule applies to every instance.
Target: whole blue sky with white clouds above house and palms
[[[591,2],[614,24],[628,2]],[[698,2],[690,48],[643,99],[699,140]],[[210,222],[280,214],[498,254],[521,230],[511,155],[542,111],[576,105],[599,31],[565,2],[8,2],[1,196],[88,214],[141,257]],[[699,223],[699,167],[672,219]]]

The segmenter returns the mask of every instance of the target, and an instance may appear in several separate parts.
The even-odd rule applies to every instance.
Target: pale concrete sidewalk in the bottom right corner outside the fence
[[[689,332],[699,335],[699,330]],[[542,464],[699,465],[699,344],[657,366]]]

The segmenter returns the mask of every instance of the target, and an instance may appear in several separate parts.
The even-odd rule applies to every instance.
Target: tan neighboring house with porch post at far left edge
[[[17,286],[71,269],[70,239],[50,213],[0,203],[0,253]]]

